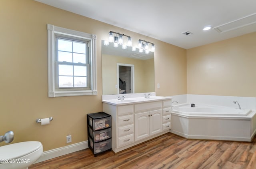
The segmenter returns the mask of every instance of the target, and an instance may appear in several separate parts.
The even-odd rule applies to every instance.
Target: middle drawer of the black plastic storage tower
[[[94,142],[99,142],[111,138],[111,128],[92,131],[89,127],[89,133]]]

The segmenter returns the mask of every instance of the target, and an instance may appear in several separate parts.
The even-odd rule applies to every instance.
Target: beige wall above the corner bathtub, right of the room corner
[[[256,32],[187,50],[188,94],[256,97]]]

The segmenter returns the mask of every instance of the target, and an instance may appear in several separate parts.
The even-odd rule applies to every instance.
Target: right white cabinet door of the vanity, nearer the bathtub
[[[150,111],[150,135],[162,132],[162,109]]]

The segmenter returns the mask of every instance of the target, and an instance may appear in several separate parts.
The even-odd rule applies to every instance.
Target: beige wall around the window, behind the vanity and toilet
[[[156,44],[157,95],[186,93],[186,50],[33,0],[1,0],[0,134],[14,131],[13,143],[41,141],[44,151],[87,140],[86,114],[102,111],[101,40],[109,30]],[[98,95],[48,98],[46,24],[97,35]],[[156,88],[156,87],[155,87]],[[50,125],[37,118],[53,117]],[[0,143],[6,145],[6,143]]]

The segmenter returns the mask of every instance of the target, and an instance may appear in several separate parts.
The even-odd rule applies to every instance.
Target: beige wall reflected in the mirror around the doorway
[[[102,55],[102,91],[104,95],[117,94],[117,64],[134,65],[134,92],[154,92],[154,59],[138,60],[120,56]]]

